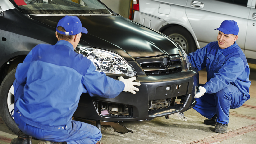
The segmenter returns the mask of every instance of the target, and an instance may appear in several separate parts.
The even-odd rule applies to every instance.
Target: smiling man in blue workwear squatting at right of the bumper
[[[216,29],[215,29],[216,30]],[[205,116],[214,131],[225,133],[229,123],[229,109],[240,107],[250,98],[249,65],[237,45],[239,28],[236,21],[221,23],[215,42],[189,53],[190,63],[198,70],[206,68],[207,83],[199,84],[194,109]]]

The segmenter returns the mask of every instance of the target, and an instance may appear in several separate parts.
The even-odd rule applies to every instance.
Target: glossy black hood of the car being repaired
[[[57,27],[63,16],[30,18]],[[78,16],[88,34],[82,34],[78,46],[92,46],[120,54],[126,60],[159,55],[179,55],[176,46],[163,34],[118,16]]]

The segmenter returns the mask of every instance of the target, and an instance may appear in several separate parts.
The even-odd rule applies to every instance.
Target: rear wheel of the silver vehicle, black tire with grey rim
[[[177,42],[187,54],[196,50],[194,38],[184,27],[172,26],[165,29],[162,33]]]

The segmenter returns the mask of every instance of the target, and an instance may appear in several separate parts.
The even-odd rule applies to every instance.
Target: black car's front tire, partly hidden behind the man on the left
[[[10,92],[10,89],[15,80],[16,68],[12,69],[5,76],[0,86],[0,114],[2,119],[4,120],[5,125],[16,135],[19,135],[19,128],[10,114],[10,110],[12,110],[12,108],[10,107],[14,106],[14,95],[13,92]]]

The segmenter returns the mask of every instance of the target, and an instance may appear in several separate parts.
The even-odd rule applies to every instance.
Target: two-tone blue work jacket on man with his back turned
[[[14,110],[19,111],[23,122],[37,128],[66,128],[82,93],[114,98],[124,90],[123,82],[95,69],[90,60],[74,52],[68,41],[37,45],[18,64],[13,83]]]

